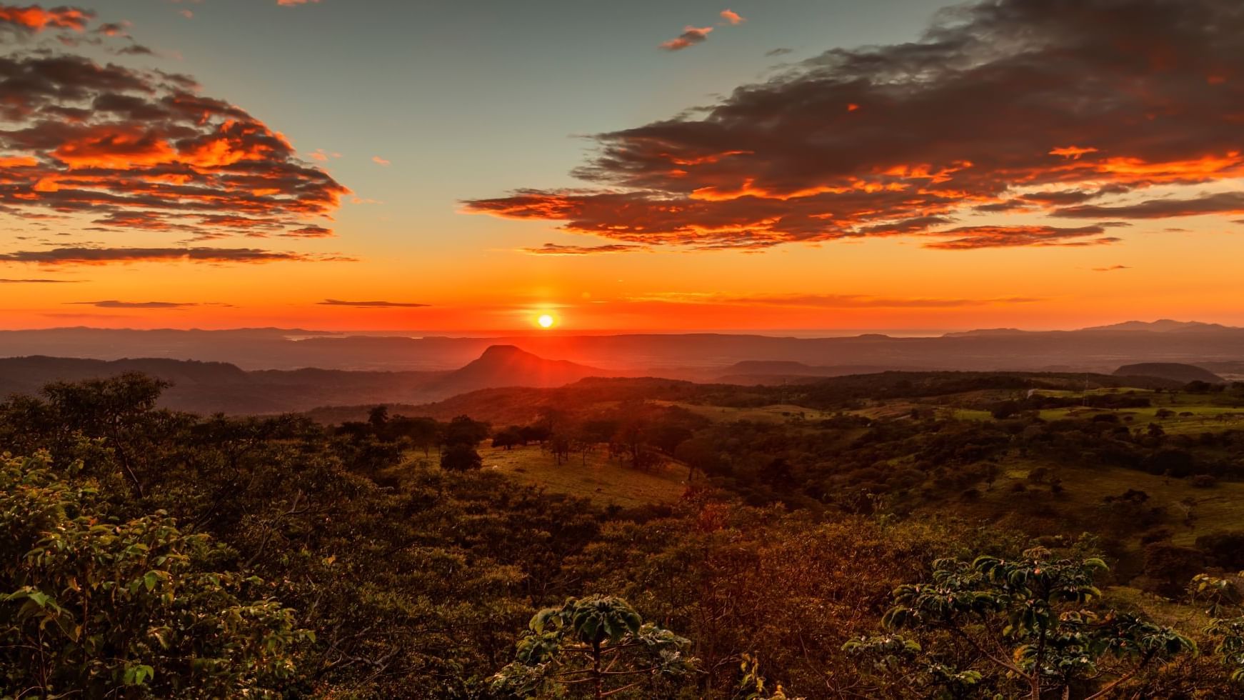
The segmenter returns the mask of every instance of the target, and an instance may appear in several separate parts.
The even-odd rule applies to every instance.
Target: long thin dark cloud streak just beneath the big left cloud
[[[251,247],[56,247],[0,254],[0,262],[31,262],[49,266],[107,265],[111,262],[255,264],[347,260],[337,256],[313,256]]]

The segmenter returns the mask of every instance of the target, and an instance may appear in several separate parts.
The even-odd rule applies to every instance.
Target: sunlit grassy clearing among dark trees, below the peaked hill
[[[680,465],[667,465],[654,472],[636,471],[610,461],[603,450],[588,455],[586,465],[578,455],[557,465],[551,454],[536,445],[513,450],[481,448],[479,454],[485,470],[498,470],[524,484],[591,499],[601,505],[669,504],[687,490],[687,471]]]

